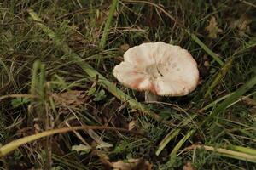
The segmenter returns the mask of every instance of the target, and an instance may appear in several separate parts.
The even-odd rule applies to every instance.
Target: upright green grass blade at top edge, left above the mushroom
[[[111,25],[111,21],[113,19],[113,14],[114,14],[115,8],[116,8],[118,3],[119,3],[119,0],[113,0],[112,4],[111,4],[111,8],[109,9],[108,20],[105,24],[105,27],[104,27],[104,30],[103,30],[103,33],[102,33],[102,39],[101,39],[101,42],[99,44],[99,47],[101,49],[105,48],[105,45],[106,45],[106,42],[107,42],[107,37],[108,37],[108,31],[109,31],[109,28],[110,28],[110,25]]]

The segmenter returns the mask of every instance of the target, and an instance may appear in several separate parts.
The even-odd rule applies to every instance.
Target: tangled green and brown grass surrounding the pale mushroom
[[[3,1],[0,169],[104,169],[131,158],[153,169],[254,169],[254,3]],[[214,38],[212,16],[222,30]],[[201,84],[144,104],[112,70],[124,45],[156,41],[187,48]]]

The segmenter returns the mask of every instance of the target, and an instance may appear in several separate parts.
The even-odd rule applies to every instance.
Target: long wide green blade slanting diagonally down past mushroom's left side
[[[109,82],[107,78],[103,77],[98,71],[96,71],[92,66],[85,63],[83,59],[79,57],[78,54],[73,53],[72,49],[67,46],[66,43],[62,42],[60,39],[57,39],[55,37],[54,31],[50,30],[47,26],[44,26],[44,24],[41,22],[42,20],[38,17],[38,14],[33,12],[32,10],[29,10],[28,13],[32,16],[33,20],[38,21],[38,26],[42,28],[45,33],[48,34],[49,37],[51,37],[53,40],[55,40],[55,45],[65,53],[68,54],[68,59],[79,65],[92,79],[95,79],[96,77],[99,78],[99,83],[102,84],[104,88],[106,88],[111,94],[113,94],[116,98],[128,102],[129,105],[131,105],[132,108],[138,109],[142,111],[144,114],[148,114],[148,116],[151,116],[154,118],[154,120],[158,122],[163,122],[167,125],[173,126],[172,123],[166,122],[161,119],[160,116],[155,114],[153,111],[150,111],[148,108],[146,108],[144,105],[142,105],[140,102],[137,102],[136,99],[132,99],[131,96],[125,94],[122,90],[119,88],[116,88],[116,86],[113,85],[113,82]]]

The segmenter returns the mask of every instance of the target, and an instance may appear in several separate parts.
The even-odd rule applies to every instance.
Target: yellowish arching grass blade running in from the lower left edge
[[[56,133],[67,133],[67,132],[71,132],[71,131],[89,130],[89,129],[91,129],[91,130],[111,130],[111,131],[140,134],[135,131],[128,131],[125,128],[118,128],[118,127],[97,127],[97,126],[63,127],[63,128],[47,130],[47,131],[44,131],[43,133],[32,134],[30,136],[26,136],[21,139],[16,139],[16,140],[10,142],[9,144],[5,144],[0,148],[0,157],[8,155],[11,151],[16,150],[22,144],[27,144],[34,140],[48,137],[48,136],[56,134]]]

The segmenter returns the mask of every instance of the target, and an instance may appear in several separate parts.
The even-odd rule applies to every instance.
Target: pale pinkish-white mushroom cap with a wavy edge
[[[165,42],[146,42],[125,52],[113,76],[128,88],[183,96],[196,88],[199,71],[186,49]]]

